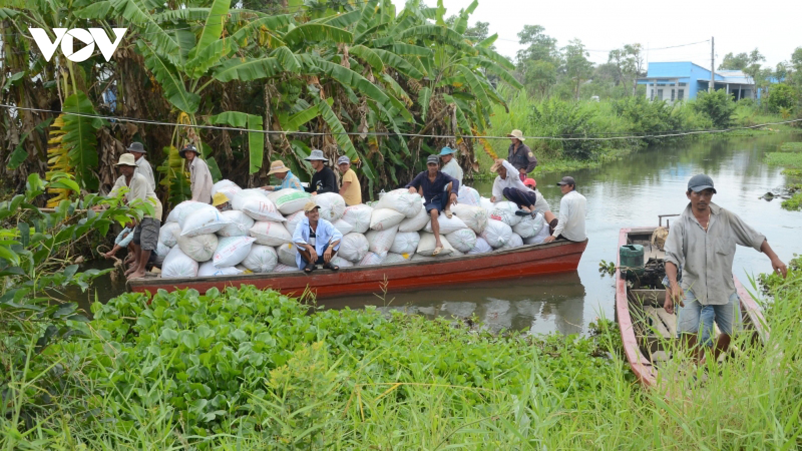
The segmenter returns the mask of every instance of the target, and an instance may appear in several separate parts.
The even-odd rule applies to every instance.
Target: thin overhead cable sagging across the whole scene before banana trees
[[[2,108],[8,109],[17,109],[17,110],[24,110],[30,112],[49,112],[53,114],[69,114],[73,116],[79,117],[89,117],[92,119],[105,119],[105,120],[114,120],[117,122],[128,122],[132,124],[148,124],[148,125],[165,125],[168,127],[188,127],[188,128],[201,128],[205,130],[226,130],[229,132],[248,132],[248,133],[263,133],[265,135],[303,135],[303,136],[334,136],[334,135],[346,135],[346,136],[405,136],[405,137],[422,137],[422,138],[477,138],[477,139],[484,139],[484,140],[508,140],[509,136],[482,136],[482,135],[423,135],[420,133],[396,133],[396,132],[291,132],[286,130],[260,130],[255,128],[237,128],[237,127],[223,127],[220,125],[201,125],[201,124],[178,124],[175,122],[164,122],[160,120],[144,120],[144,119],[137,119],[137,118],[129,118],[123,116],[103,116],[103,115],[93,115],[87,113],[79,113],[79,112],[63,112],[63,111],[56,111],[56,110],[47,110],[43,108],[24,108],[24,107],[17,107],[14,105],[8,104],[0,104]],[[717,130],[688,130],[688,131],[674,131],[674,132],[662,132],[656,133],[651,135],[630,135],[630,136],[602,136],[602,137],[593,137],[593,136],[575,136],[575,137],[565,137],[565,136],[522,136],[524,139],[531,139],[531,140],[557,140],[557,141],[609,141],[609,140],[638,140],[638,139],[646,139],[646,138],[668,138],[674,136],[689,136],[689,135],[702,135],[708,133],[724,133],[724,132],[734,132],[736,130],[748,130],[753,128],[761,128],[766,127],[768,125],[780,125],[780,124],[792,124],[794,122],[802,122],[802,119],[793,119],[793,120],[784,120],[780,122],[768,122],[766,124],[757,124],[751,126],[744,126],[744,127],[735,127],[735,128],[723,128]]]

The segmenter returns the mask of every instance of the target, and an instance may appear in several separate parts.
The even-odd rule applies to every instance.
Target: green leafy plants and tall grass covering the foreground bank
[[[762,279],[769,343],[736,340],[743,353],[672,377],[669,397],[634,382],[605,320],[589,337],[493,336],[307,314],[249,286],[123,295],[95,304],[87,338],[41,352],[35,336],[0,339],[0,448],[799,449],[793,267]]]

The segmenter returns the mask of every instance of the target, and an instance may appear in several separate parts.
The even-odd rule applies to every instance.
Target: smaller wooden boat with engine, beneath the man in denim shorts
[[[661,364],[666,363],[669,350],[666,344],[676,336],[676,314],[669,314],[663,306],[666,289],[662,286],[665,270],[662,269],[665,251],[652,244],[652,234],[657,227],[633,227],[622,229],[618,247],[628,244],[643,246],[646,271],[657,269],[641,280],[627,282],[622,271],[615,274],[615,315],[621,330],[621,339],[626,360],[642,384],[654,387]],[[618,265],[620,267],[620,254]],[[646,274],[645,274],[646,275]],[[655,282],[659,280],[659,282]],[[768,339],[763,314],[755,299],[741,282],[734,278],[735,289],[741,304],[742,330],[738,333],[751,335],[754,340]]]

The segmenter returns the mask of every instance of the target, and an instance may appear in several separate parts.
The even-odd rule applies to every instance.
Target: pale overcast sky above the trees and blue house
[[[393,0],[399,10],[404,0]],[[457,14],[472,0],[444,0],[446,16]],[[427,0],[435,6],[436,0]],[[559,46],[579,38],[589,49],[594,63],[606,63],[611,49],[626,43],[644,47],[686,47],[650,50],[649,61],[693,61],[710,67],[711,36],[715,37],[715,67],[728,52],[751,51],[758,47],[764,65],[775,67],[787,61],[802,46],[802,1],[755,2],[730,0],[702,2],[636,2],[634,0],[479,0],[470,22],[490,22],[490,34],[497,33],[496,47],[502,55],[514,57],[520,49],[517,33],[524,25],[545,26],[545,33],[557,38]]]

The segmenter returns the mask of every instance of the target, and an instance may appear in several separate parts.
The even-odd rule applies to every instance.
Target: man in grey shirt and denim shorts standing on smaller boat
[[[763,234],[759,234],[735,213],[711,202],[713,179],[704,174],[691,177],[685,195],[690,201],[678,220],[672,222],[666,238],[666,275],[671,296],[665,302],[669,313],[679,304],[677,331],[691,348],[696,347],[700,328],[712,336],[713,324],[701,322],[703,309],[713,310],[721,334],[713,355],[727,351],[732,333],[740,323],[740,302],[732,281],[735,245],[749,246],[768,255],[772,268],[785,277],[787,269]],[[683,268],[682,286],[677,279]],[[703,343],[705,344],[705,343]],[[712,344],[712,343],[711,343]],[[701,360],[704,350],[696,351]]]

